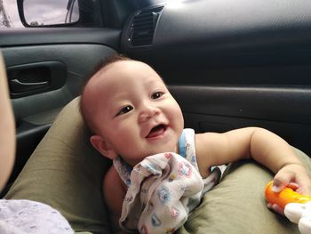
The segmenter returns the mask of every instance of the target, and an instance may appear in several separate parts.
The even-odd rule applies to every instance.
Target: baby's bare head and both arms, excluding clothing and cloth
[[[122,158],[131,167],[148,156],[180,154],[184,119],[179,104],[154,69],[146,63],[114,56],[84,86],[81,111],[93,135],[90,141],[104,157]],[[190,133],[191,135],[191,133]],[[202,178],[211,167],[252,158],[275,173],[274,190],[286,185],[311,195],[307,170],[282,138],[259,127],[191,136],[193,155]],[[115,164],[116,165],[116,164]],[[128,190],[112,165],[103,180],[103,194],[115,227]],[[277,213],[282,208],[268,204]]]

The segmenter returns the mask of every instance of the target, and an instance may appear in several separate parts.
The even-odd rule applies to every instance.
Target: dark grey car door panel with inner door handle
[[[17,157],[11,181],[60,109],[80,94],[100,61],[118,49],[120,32],[79,29],[0,31],[17,126]]]

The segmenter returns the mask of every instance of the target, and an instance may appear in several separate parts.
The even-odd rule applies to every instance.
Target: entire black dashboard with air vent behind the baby
[[[199,0],[149,7],[129,18],[121,48],[160,73],[186,126],[222,133],[257,125],[311,155],[311,4],[266,4]],[[157,23],[136,27],[148,17]]]

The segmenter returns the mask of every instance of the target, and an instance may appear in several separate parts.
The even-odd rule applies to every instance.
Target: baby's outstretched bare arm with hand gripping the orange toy
[[[295,183],[299,193],[311,195],[311,180],[305,166],[286,141],[265,129],[247,127],[227,133],[196,134],[195,149],[202,175],[211,165],[251,157],[276,173],[275,191]]]

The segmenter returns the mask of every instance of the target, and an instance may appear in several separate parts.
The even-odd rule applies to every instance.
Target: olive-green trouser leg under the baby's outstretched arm
[[[294,149],[311,170],[311,161]],[[179,233],[297,233],[297,224],[267,209],[264,188],[272,174],[252,161],[227,167],[226,176],[205,194],[201,206],[190,214]]]

